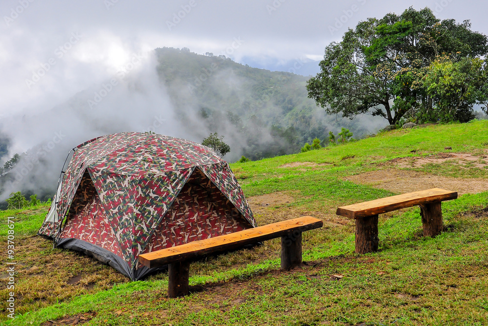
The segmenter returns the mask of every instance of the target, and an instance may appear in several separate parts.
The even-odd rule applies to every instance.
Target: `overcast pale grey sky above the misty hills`
[[[410,5],[488,33],[486,1],[1,0],[0,114],[53,107],[156,47],[290,71],[320,60],[347,27]]]

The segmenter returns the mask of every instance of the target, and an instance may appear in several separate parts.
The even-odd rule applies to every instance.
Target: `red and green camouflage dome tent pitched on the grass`
[[[209,148],[124,132],[75,149],[39,234],[140,280],[154,272],[141,253],[255,226],[236,177]]]

